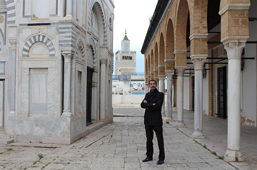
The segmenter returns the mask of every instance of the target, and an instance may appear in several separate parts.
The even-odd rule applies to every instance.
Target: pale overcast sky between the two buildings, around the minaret
[[[125,36],[130,40],[130,51],[136,51],[136,72],[144,72],[141,48],[149,27],[148,18],[154,13],[158,0],[114,0],[113,52],[121,50]],[[115,56],[114,56],[115,72]]]

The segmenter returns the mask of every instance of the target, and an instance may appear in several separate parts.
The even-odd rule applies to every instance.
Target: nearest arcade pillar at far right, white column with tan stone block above
[[[242,50],[249,38],[250,0],[240,2],[222,1],[219,11],[220,41],[228,55],[228,149],[224,155],[227,161],[244,161],[240,152],[240,75]]]

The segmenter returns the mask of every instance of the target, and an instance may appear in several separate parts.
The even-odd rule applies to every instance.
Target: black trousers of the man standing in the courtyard
[[[146,132],[146,157],[151,157],[153,155],[153,131],[155,131],[158,147],[160,150],[159,159],[165,159],[164,153],[164,142],[163,142],[163,135],[162,135],[162,125],[145,125],[145,132]]]

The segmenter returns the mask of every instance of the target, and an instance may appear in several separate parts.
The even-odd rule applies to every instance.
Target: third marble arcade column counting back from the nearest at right
[[[186,127],[184,120],[183,120],[183,92],[184,92],[184,68],[175,67],[178,80],[177,80],[177,108],[178,108],[178,119],[175,124],[175,127]]]

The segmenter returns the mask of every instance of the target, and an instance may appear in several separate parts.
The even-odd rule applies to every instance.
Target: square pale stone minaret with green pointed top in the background
[[[136,51],[130,51],[130,40],[125,36],[121,41],[121,50],[115,53],[115,75],[131,74],[136,72]]]

